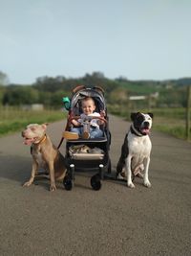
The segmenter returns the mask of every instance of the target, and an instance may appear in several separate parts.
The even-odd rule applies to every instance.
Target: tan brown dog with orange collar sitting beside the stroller
[[[48,124],[31,124],[22,131],[25,145],[32,145],[32,175],[23,186],[30,186],[39,167],[49,172],[51,179],[50,190],[56,190],[55,179],[61,180],[66,173],[65,158],[53,145],[50,137],[46,134]]]

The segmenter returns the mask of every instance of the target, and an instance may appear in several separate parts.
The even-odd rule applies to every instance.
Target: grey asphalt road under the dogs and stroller
[[[48,128],[55,145],[64,127]],[[113,172],[128,128],[110,117]],[[60,183],[51,193],[46,179],[22,187],[30,148],[20,133],[1,138],[0,255],[191,255],[191,144],[154,131],[151,140],[150,189],[137,178],[135,189],[104,180],[96,192],[89,174],[77,174],[72,191]]]

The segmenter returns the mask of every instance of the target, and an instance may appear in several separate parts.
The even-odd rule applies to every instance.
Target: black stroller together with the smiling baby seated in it
[[[79,85],[73,90],[69,106],[63,132],[67,168],[64,187],[72,189],[75,172],[93,172],[96,174],[91,177],[91,186],[99,190],[104,174],[111,173],[111,133],[104,91],[96,86],[87,88]]]

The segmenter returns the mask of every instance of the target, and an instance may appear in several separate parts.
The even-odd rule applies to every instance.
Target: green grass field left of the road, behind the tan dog
[[[66,118],[61,110],[22,110],[19,107],[0,107],[0,136],[25,128],[30,123],[52,123]]]

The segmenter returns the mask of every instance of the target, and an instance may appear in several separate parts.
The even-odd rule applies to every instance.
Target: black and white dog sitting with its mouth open
[[[132,175],[142,176],[142,171],[144,186],[151,187],[148,169],[152,144],[148,134],[152,127],[152,119],[153,113],[131,113],[133,123],[125,136],[117,163],[117,177],[127,176],[127,186],[130,188],[135,188]]]

